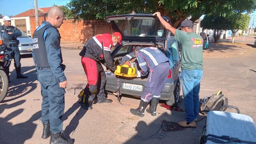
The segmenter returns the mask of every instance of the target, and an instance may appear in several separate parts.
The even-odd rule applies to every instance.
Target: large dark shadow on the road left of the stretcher
[[[149,113],[145,112],[145,115]],[[162,113],[161,116],[155,119],[152,123],[147,125],[143,118],[137,123],[135,130],[137,134],[130,138],[124,144],[192,144],[199,143],[199,138],[202,134],[202,128],[204,126],[205,120],[197,123],[197,128],[180,128],[176,127],[175,130],[170,132],[164,132],[163,124],[166,121],[178,123],[178,121],[183,120],[178,112],[172,112],[171,115],[168,113]],[[201,117],[199,116],[199,119]],[[177,124],[175,124],[177,125]],[[180,129],[180,130],[179,130]]]

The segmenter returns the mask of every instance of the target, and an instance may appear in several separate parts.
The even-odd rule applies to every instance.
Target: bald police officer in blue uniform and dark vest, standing
[[[62,64],[60,34],[57,28],[63,24],[64,13],[59,7],[51,7],[47,20],[33,34],[33,60],[37,78],[41,84],[43,139],[50,144],[73,144],[73,139],[62,136],[62,115],[67,80]]]

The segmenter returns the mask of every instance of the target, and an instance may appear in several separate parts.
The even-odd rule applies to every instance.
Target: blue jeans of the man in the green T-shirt
[[[182,90],[188,123],[198,118],[199,113],[199,90],[203,70],[182,70]]]

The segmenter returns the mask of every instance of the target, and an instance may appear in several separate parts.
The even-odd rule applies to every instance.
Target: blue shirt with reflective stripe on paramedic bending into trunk
[[[137,61],[141,68],[141,75],[146,76],[157,65],[169,61],[161,50],[156,47],[145,47],[137,53]]]

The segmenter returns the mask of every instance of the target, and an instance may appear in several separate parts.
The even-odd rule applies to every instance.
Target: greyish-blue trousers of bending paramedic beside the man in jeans
[[[164,85],[168,76],[169,67],[169,62],[165,62],[157,65],[149,72],[144,91],[140,97],[144,102],[149,102],[153,97],[161,97],[161,92],[164,90]]]

